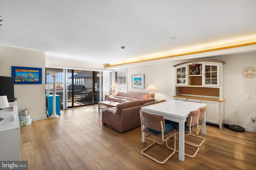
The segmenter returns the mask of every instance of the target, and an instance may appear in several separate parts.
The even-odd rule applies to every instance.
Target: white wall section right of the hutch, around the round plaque
[[[224,122],[256,131],[252,114],[256,114],[256,76],[246,78],[246,67],[256,68],[256,53],[244,53],[220,58],[224,64]]]

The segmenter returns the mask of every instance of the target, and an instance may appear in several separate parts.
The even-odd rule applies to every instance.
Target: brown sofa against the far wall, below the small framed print
[[[107,100],[113,102],[128,102],[131,100],[143,100],[148,99],[148,93],[136,93],[136,92],[117,92],[115,96],[108,96]]]

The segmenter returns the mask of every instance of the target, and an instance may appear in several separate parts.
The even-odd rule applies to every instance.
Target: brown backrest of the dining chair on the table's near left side
[[[162,121],[163,129],[165,131],[164,116],[163,115],[148,113],[147,111],[140,110],[140,116],[141,116],[141,119],[142,119],[142,124],[145,127],[148,127],[150,129],[154,129],[156,131],[162,131],[161,123],[160,123]]]

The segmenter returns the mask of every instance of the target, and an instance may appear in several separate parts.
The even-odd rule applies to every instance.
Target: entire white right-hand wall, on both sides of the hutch
[[[239,125],[246,130],[256,131],[256,123],[252,122],[252,114],[256,114],[256,77],[245,78],[244,68],[256,68],[256,53],[244,53],[215,57],[214,60],[225,61],[224,64],[224,123]],[[194,60],[194,59],[193,59]],[[183,62],[183,61],[182,61]],[[174,67],[181,63],[170,61],[165,64],[127,68],[127,91],[146,92],[149,84],[154,84],[157,100],[172,100],[174,95]],[[132,74],[144,74],[144,89],[131,87]]]

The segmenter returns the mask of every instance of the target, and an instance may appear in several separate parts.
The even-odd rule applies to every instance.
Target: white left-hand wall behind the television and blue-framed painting
[[[28,109],[32,120],[45,116],[45,53],[0,46],[0,75],[12,76],[12,66],[42,68],[42,84],[14,84],[18,110]]]

